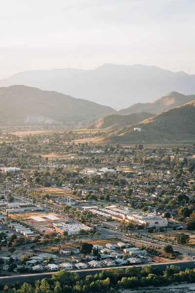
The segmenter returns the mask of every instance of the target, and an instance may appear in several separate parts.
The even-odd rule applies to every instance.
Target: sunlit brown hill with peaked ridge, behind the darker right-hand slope
[[[130,114],[135,112],[150,112],[153,114],[158,114],[165,112],[171,108],[178,107],[180,105],[186,104],[195,100],[195,95],[182,95],[177,92],[171,92],[160,99],[154,101],[153,103],[137,103],[126,109],[118,111],[119,114]]]

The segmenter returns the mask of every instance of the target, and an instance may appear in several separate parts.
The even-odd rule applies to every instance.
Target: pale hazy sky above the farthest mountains
[[[103,63],[195,74],[195,0],[0,0],[0,78]]]

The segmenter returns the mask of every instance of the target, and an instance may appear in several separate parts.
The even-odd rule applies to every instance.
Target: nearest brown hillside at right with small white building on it
[[[141,128],[141,131],[134,130]],[[195,100],[124,127],[106,137],[118,143],[195,141]]]

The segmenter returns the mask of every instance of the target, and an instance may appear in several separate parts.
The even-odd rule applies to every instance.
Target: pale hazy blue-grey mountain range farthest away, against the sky
[[[129,107],[135,101],[151,103],[172,91],[185,95],[195,93],[195,75],[138,64],[104,64],[94,70],[31,70],[0,80],[0,86],[15,84],[57,91],[117,110]],[[141,111],[151,113],[146,109]]]

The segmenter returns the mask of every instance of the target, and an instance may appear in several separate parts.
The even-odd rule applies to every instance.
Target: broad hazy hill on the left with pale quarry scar
[[[84,123],[116,112],[87,100],[24,85],[0,88],[0,125]]]

